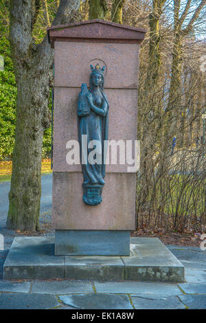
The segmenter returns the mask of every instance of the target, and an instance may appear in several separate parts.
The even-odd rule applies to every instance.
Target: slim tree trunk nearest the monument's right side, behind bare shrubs
[[[150,25],[150,42],[149,42],[149,60],[148,69],[146,73],[146,80],[143,90],[139,89],[139,111],[141,111],[141,118],[143,122],[139,122],[139,129],[142,129],[142,153],[141,153],[141,167],[142,167],[142,181],[143,194],[148,195],[148,183],[150,183],[150,171],[152,166],[148,160],[148,151],[153,150],[156,138],[161,130],[161,109],[159,104],[158,80],[161,70],[161,55],[159,49],[160,35],[159,35],[159,20],[163,13],[163,5],[166,0],[153,0],[152,10],[149,15]],[[156,128],[156,129],[155,129]],[[156,130],[156,131],[155,131]]]

